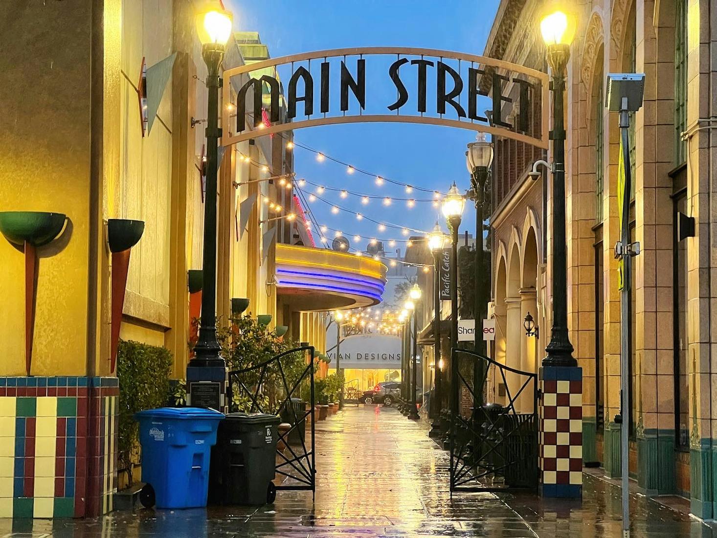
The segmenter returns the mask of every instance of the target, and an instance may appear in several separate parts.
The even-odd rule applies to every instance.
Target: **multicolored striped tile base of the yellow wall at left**
[[[0,517],[112,509],[118,395],[113,377],[0,377]]]

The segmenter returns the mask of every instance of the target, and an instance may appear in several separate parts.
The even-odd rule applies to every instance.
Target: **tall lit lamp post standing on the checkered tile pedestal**
[[[565,68],[570,57],[574,24],[562,11],[543,16],[540,23],[548,47],[553,89],[553,326],[543,366],[577,366],[568,337],[568,260],[565,245],[565,127],[563,101]]]

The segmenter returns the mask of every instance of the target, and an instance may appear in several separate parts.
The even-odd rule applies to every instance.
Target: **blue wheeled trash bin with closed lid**
[[[206,506],[209,455],[224,415],[198,407],[161,407],[136,413],[142,445],[142,504],[157,508]],[[152,502],[154,500],[155,502]]]

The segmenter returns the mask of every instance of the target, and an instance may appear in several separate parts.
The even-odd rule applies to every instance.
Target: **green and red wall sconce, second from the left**
[[[110,373],[115,371],[117,346],[120,341],[122,308],[130,268],[130,251],[144,233],[144,221],[110,219],[107,221],[107,243],[112,253],[112,308],[110,331]]]

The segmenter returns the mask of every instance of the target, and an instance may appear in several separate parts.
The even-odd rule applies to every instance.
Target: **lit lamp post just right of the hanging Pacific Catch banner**
[[[458,346],[458,228],[460,227],[460,217],[463,214],[465,198],[458,192],[455,183],[448,190],[448,195],[443,199],[442,211],[448,221],[448,227],[451,232],[451,250],[450,250],[450,316],[451,316],[451,349]],[[450,409],[455,417],[458,412],[458,372],[451,361],[450,365],[451,383],[450,383]]]

